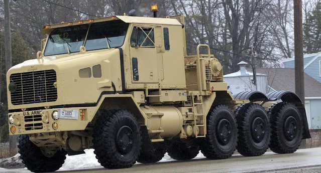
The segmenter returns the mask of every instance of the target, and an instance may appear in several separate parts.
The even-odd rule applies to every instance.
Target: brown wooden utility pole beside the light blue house
[[[294,0],[294,71],[295,93],[304,102],[302,1]]]

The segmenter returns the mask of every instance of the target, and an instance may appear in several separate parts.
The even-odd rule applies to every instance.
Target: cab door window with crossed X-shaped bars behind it
[[[154,29],[148,27],[134,27],[131,35],[131,46],[154,48]]]

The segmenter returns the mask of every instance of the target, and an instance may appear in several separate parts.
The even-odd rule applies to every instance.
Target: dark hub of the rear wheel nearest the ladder
[[[218,124],[217,136],[219,142],[227,144],[231,138],[231,124],[227,119],[221,119]]]

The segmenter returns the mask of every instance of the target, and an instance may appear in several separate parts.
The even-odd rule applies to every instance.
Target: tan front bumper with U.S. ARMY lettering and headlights
[[[66,115],[66,112],[71,113]],[[12,112],[8,114],[9,133],[10,135],[20,135],[84,130],[88,122],[91,121],[93,112],[94,109],[91,107]]]

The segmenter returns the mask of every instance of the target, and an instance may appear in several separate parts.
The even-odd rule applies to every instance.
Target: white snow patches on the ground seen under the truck
[[[85,154],[80,155],[72,155],[68,156],[65,160],[65,163],[62,165],[62,167],[58,171],[66,171],[66,170],[75,170],[75,169],[83,169],[83,168],[96,168],[96,167],[102,167],[100,163],[98,163],[98,160],[95,158],[95,154],[93,153],[93,149],[86,149]],[[15,159],[8,159],[13,160],[12,163],[17,161],[20,154],[16,154],[15,156],[11,158]],[[204,155],[199,152],[195,158],[204,158]],[[167,161],[173,161],[167,153],[165,156],[159,161],[159,162],[167,162]],[[141,163],[136,163],[141,164]],[[22,169],[5,169],[0,167],[0,172],[30,172],[27,170],[27,168]]]

